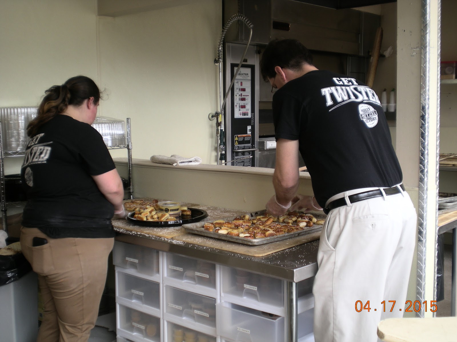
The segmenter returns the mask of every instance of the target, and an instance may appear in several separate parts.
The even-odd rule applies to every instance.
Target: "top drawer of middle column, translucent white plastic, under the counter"
[[[166,254],[165,277],[216,289],[216,265],[179,254]]]

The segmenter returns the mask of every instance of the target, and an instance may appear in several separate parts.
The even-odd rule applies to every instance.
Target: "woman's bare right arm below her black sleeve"
[[[124,209],[122,199],[124,198],[124,188],[122,180],[116,169],[92,176],[100,192],[114,206],[114,212],[118,213]]]

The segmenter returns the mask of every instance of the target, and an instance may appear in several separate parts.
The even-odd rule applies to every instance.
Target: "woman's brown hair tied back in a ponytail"
[[[100,101],[99,88],[92,79],[86,76],[69,78],[64,84],[54,85],[44,93],[37,116],[27,125],[29,137],[36,135],[41,125],[54,116],[65,113],[69,105],[78,107],[90,97],[94,98],[94,104],[98,104]]]

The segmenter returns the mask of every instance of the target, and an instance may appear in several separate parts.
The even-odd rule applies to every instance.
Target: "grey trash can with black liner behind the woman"
[[[35,342],[38,279],[22,253],[0,255],[0,340]]]

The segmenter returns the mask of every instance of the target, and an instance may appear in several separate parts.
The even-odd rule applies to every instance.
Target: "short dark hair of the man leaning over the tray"
[[[260,73],[264,81],[274,78],[275,67],[298,71],[303,63],[313,65],[309,50],[296,39],[275,39],[268,43],[260,60]]]

